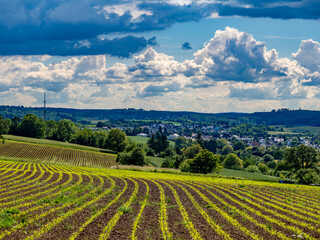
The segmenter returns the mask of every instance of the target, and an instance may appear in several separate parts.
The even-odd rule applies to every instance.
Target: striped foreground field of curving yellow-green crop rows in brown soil
[[[0,161],[0,239],[319,239],[320,189]]]

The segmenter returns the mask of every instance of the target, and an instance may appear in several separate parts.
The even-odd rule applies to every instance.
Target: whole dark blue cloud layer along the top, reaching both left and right
[[[143,0],[0,1],[0,55],[108,53],[128,57],[147,45],[155,46],[155,38],[145,42],[131,37],[131,44],[128,37],[117,39],[117,43],[109,39],[100,41],[98,36],[163,30],[177,22],[199,21],[212,13],[319,19],[319,9],[318,0],[222,0],[191,4]],[[76,43],[87,40],[90,47],[74,48]]]

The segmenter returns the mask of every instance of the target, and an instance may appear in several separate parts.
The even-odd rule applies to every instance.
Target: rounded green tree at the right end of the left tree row
[[[128,145],[127,136],[120,129],[111,129],[108,133],[105,148],[111,149],[113,151],[122,152],[126,149]]]

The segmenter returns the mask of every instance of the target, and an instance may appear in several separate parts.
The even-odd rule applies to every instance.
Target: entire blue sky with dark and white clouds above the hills
[[[318,0],[0,1],[0,105],[320,110]]]

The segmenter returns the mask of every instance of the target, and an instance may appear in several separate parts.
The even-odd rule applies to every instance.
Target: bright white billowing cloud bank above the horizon
[[[137,107],[193,111],[240,111],[287,101],[318,103],[320,44],[301,41],[292,58],[246,32],[218,30],[191,60],[179,62],[152,47],[134,63],[107,67],[106,55],[72,57],[45,64],[50,56],[0,58],[0,97],[6,104],[48,102],[66,107]],[[218,109],[215,104],[219,103]],[[312,106],[312,105],[310,105]]]

